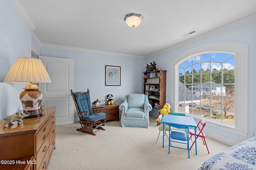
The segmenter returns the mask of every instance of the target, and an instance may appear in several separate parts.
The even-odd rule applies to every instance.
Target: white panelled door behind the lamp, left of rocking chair
[[[74,90],[74,60],[39,56],[52,83],[39,83],[46,107],[56,107],[56,125],[74,123],[74,101],[70,89]]]

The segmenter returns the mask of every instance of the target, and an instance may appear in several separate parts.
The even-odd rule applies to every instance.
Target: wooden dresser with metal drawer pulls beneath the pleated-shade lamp
[[[40,117],[3,127],[0,121],[0,170],[46,170],[55,149],[55,109],[46,107]]]

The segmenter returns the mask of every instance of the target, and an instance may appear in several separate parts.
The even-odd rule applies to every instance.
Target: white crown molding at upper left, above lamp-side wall
[[[31,20],[30,16],[28,15],[28,13],[26,12],[26,10],[24,9],[24,7],[22,6],[22,4],[20,3],[20,0],[10,0],[10,2],[12,3],[12,5],[14,6],[14,8],[18,11],[18,13],[20,13],[20,16],[23,18],[23,20],[28,24],[28,26],[30,27],[31,30],[36,29],[36,25],[34,24],[34,22]]]

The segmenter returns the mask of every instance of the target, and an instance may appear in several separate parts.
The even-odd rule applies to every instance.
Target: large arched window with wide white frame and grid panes
[[[171,63],[171,111],[202,117],[212,127],[246,136],[247,84],[248,45],[192,48]]]

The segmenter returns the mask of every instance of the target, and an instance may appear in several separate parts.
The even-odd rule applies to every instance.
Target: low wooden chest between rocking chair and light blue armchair
[[[102,113],[106,113],[106,121],[118,120],[119,121],[119,105],[117,104],[100,104],[98,107],[102,107]],[[92,106],[92,109],[97,109],[97,106]]]

